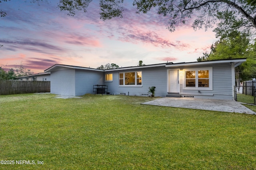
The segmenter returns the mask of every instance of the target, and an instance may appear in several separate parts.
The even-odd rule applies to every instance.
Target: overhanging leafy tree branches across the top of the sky
[[[74,15],[76,10],[84,10],[92,0],[60,0],[58,7]],[[100,18],[103,20],[122,17],[124,0],[100,0]],[[250,4],[250,5],[248,5]],[[256,6],[254,0],[134,0],[138,12],[147,13],[158,8],[158,14],[168,16],[168,29],[175,31],[180,24],[194,20],[194,29],[213,27],[216,35],[223,36],[232,30],[256,30]]]

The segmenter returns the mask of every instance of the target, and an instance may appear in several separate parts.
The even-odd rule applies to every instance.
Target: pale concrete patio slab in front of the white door
[[[212,99],[192,99],[192,98],[159,98],[142,104],[167,106],[167,107],[182,107],[189,109],[202,109],[213,111],[225,111],[235,113],[256,113],[251,109],[243,106],[234,100],[212,100]]]

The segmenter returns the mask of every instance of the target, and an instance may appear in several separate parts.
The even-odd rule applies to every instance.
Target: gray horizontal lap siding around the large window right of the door
[[[201,68],[202,66],[190,66],[186,68]],[[180,94],[182,97],[225,99],[233,100],[232,91],[232,67],[228,63],[205,65],[203,67],[212,67],[212,90],[186,90],[183,89],[183,72],[180,72]]]

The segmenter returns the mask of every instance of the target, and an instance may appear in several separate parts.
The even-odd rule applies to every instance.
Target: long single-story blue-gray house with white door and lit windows
[[[110,70],[55,64],[51,73],[51,93],[82,96],[95,94],[94,85],[105,85],[110,94],[207,99],[234,99],[235,67],[246,59],[226,59],[190,63],[162,63]]]

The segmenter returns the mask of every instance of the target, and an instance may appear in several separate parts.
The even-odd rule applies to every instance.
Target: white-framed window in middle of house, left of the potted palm
[[[142,72],[120,72],[119,86],[142,86]]]

